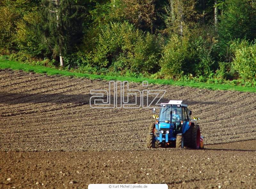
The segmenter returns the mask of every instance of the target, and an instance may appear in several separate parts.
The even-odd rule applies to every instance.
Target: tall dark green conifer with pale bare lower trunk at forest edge
[[[42,0],[42,19],[44,25],[43,41],[52,51],[53,57],[60,57],[60,66],[64,66],[63,56],[68,52],[72,39],[79,37],[79,22],[84,7],[76,0]],[[82,27],[82,26],[81,26]],[[76,37],[75,37],[76,36]]]

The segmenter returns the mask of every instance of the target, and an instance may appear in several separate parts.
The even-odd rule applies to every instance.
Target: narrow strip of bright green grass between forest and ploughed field
[[[46,73],[48,75],[63,75],[63,76],[74,76],[74,77],[84,77],[89,79],[103,79],[103,80],[119,80],[119,81],[129,81],[141,83],[142,81],[148,81],[149,84],[164,84],[164,85],[176,85],[176,86],[189,86],[189,87],[198,87],[206,88],[212,90],[234,90],[234,91],[243,91],[243,92],[256,92],[254,87],[240,87],[240,86],[231,86],[227,84],[207,84],[202,82],[183,82],[183,81],[173,81],[165,79],[148,79],[148,78],[132,78],[132,77],[113,77],[113,76],[104,76],[104,75],[95,75],[95,74],[85,74],[77,72],[68,72],[63,70],[58,70],[54,68],[44,67],[44,66],[34,66],[29,64],[24,64],[20,62],[10,61],[10,60],[0,60],[0,69],[12,69],[12,70],[23,70],[26,72],[36,72],[36,73]]]

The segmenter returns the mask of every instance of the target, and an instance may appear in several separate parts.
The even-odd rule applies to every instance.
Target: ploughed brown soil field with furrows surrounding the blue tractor
[[[189,105],[208,145],[147,149],[151,110],[92,109],[92,89],[108,82],[0,70],[0,188],[256,188],[256,94],[149,85]]]

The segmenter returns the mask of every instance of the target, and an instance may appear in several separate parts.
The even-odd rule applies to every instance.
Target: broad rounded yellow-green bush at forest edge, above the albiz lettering
[[[90,55],[90,64],[114,67],[115,71],[149,72],[158,62],[157,37],[145,34],[128,22],[103,26]]]

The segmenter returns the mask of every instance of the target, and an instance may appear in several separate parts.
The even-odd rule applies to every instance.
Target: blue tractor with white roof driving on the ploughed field
[[[153,109],[155,113],[156,110]],[[149,126],[147,136],[147,147],[158,148],[176,146],[183,148],[203,148],[203,137],[199,125],[191,120],[192,111],[182,101],[170,100],[168,103],[161,103],[159,115],[154,115],[155,124]]]

